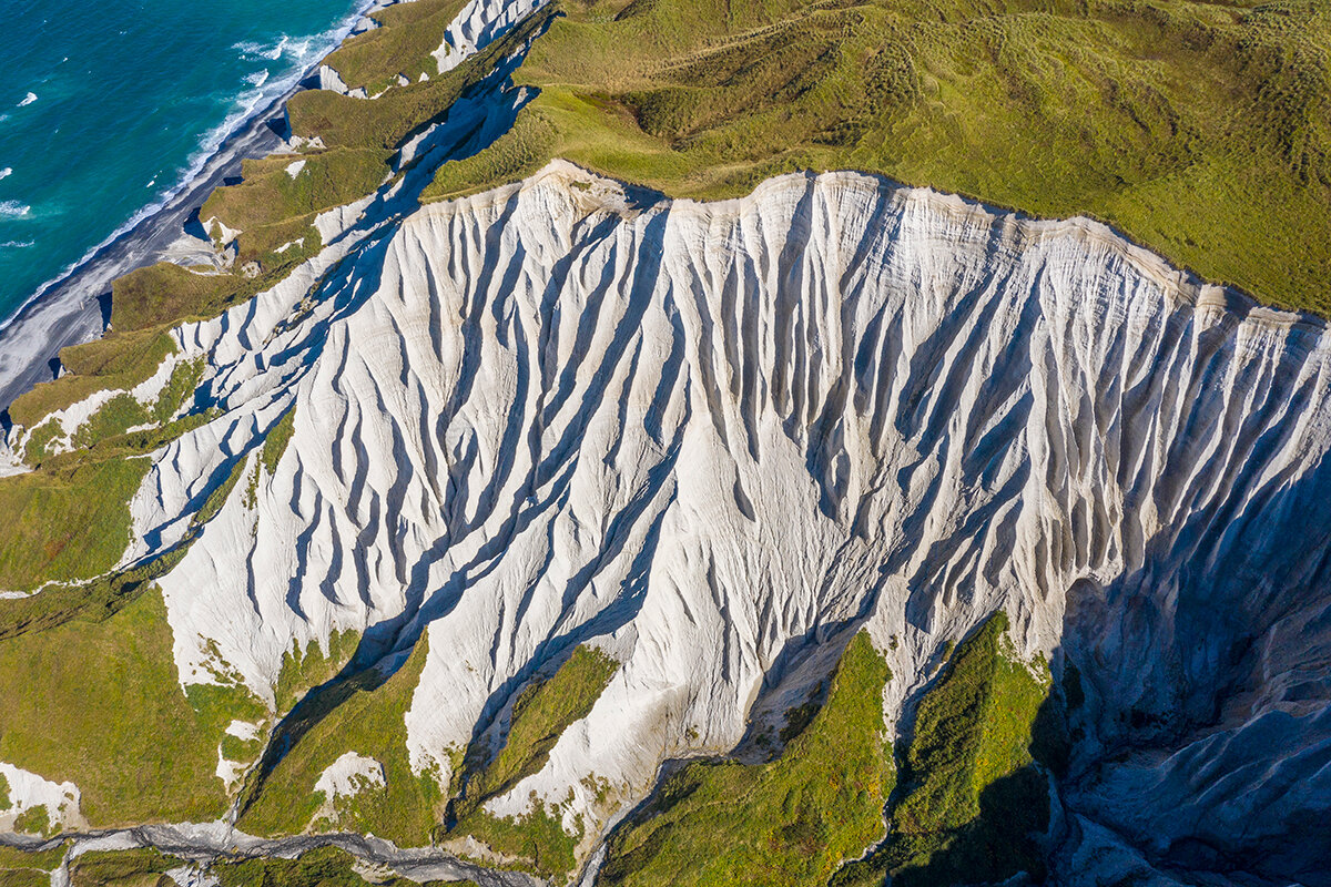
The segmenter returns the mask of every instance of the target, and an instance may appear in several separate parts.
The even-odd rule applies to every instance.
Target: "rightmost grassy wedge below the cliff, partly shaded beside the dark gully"
[[[1030,832],[1047,827],[1049,798],[1032,747],[1051,684],[1042,664],[1033,674],[1018,660],[1006,630],[1004,613],[990,617],[921,699],[889,838],[833,884],[889,874],[902,887],[1044,878]]]

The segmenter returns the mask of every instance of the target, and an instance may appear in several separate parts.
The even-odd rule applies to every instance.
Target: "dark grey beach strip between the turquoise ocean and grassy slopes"
[[[330,53],[361,33],[367,17],[402,0],[362,0],[331,29]],[[0,323],[0,436],[8,430],[7,411],[13,400],[41,382],[59,375],[61,348],[100,338],[110,320],[110,286],[125,274],[152,265],[188,234],[196,209],[225,180],[240,174],[241,161],[266,157],[286,145],[286,102],[303,92],[329,53],[313,60],[285,92],[240,118],[218,141],[197,172],[182,181],[161,205],[112,234],[101,245],[43,285],[8,319]],[[149,203],[148,206],[152,206]]]

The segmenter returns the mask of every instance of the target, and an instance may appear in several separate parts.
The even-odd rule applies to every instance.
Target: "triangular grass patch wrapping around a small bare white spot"
[[[399,846],[429,843],[443,793],[433,774],[411,770],[405,722],[427,656],[429,644],[422,638],[387,681],[378,684],[373,673],[361,674],[337,688],[326,703],[303,711],[307,722],[291,749],[249,789],[240,827],[262,835],[305,831],[325,802],[314,783],[343,753],[355,751],[383,766],[385,785],[338,799],[337,822],[321,826],[373,831]]]

